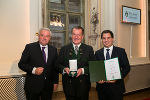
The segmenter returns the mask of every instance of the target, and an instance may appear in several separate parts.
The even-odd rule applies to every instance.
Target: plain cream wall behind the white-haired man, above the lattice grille
[[[36,40],[40,0],[0,0],[0,76],[17,75],[25,44]]]

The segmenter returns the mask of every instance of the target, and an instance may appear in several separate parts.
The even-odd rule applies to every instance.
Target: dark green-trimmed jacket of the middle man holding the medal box
[[[84,68],[85,75],[89,75],[88,61],[94,59],[93,48],[81,43],[78,55],[76,55],[72,43],[62,47],[58,57],[60,73],[63,73],[65,67],[69,67],[69,60],[71,59],[77,59],[77,67]]]

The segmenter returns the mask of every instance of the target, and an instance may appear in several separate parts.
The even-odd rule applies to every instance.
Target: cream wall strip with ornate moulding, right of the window
[[[88,1],[88,44],[91,45],[94,50],[100,48],[100,4],[101,0],[89,0]]]

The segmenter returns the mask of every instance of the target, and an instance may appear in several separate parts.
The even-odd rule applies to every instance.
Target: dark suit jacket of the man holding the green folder
[[[105,57],[104,57],[104,48],[96,51],[95,57],[96,57],[97,60],[105,60]],[[119,91],[125,92],[123,78],[129,73],[129,71],[130,71],[130,64],[129,64],[129,61],[128,61],[128,58],[127,58],[127,54],[126,54],[125,50],[123,48],[119,48],[119,47],[113,46],[113,51],[112,51],[111,58],[116,58],[116,57],[118,57],[122,79],[117,80],[115,82],[115,85],[117,87],[119,86]],[[98,84],[97,86],[105,87],[105,85],[106,84]],[[116,89],[114,87],[114,91],[115,90]]]

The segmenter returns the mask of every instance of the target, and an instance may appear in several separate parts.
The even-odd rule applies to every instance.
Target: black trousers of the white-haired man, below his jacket
[[[52,99],[52,91],[42,91],[40,93],[32,93],[29,91],[25,91],[27,100],[51,100]]]

